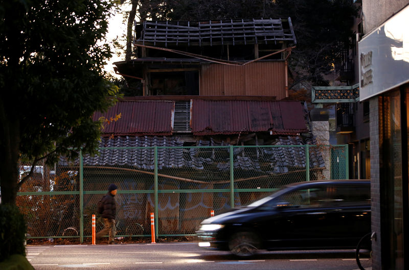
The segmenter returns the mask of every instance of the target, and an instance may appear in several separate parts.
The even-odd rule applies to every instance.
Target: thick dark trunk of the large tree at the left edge
[[[21,140],[20,114],[21,110],[24,110],[18,101],[20,99],[18,83],[21,83],[19,65],[22,56],[19,52],[23,50],[24,42],[18,28],[10,27],[10,24],[21,15],[21,12],[26,11],[20,7],[12,10],[7,9],[7,11],[4,19],[7,42],[2,45],[5,46],[4,49],[7,52],[5,58],[8,60],[7,69],[3,70],[5,72],[4,86],[2,97],[0,97],[0,185],[2,204],[15,204]]]

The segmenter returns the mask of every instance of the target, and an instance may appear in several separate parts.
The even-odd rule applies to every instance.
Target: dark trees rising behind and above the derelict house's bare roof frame
[[[350,45],[353,17],[357,14],[349,0],[155,0],[155,5],[145,2],[132,0],[133,11],[141,14],[141,21],[290,17],[297,38],[297,48],[289,58],[292,90],[328,86],[326,75],[340,63],[340,44]],[[129,22],[133,18],[128,18],[129,41]],[[129,41],[127,52],[130,46]],[[129,60],[131,54],[127,57]]]

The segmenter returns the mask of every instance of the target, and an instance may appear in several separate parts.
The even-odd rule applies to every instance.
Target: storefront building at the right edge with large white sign
[[[409,1],[363,0],[362,13],[359,94],[370,112],[372,269],[407,269]]]

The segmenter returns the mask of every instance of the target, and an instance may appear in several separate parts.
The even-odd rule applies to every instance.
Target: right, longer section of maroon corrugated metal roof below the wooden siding
[[[305,116],[299,101],[194,99],[191,126],[195,135],[262,131],[297,135],[308,132]]]

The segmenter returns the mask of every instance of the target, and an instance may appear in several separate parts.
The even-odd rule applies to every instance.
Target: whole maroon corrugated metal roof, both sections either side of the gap
[[[186,130],[194,135],[270,132],[271,135],[298,135],[308,132],[306,112],[301,102],[289,100],[213,100],[191,99],[191,118],[186,117]],[[108,136],[172,135],[175,101],[121,100],[107,113],[95,113],[107,119],[121,113],[116,122],[105,125]]]

